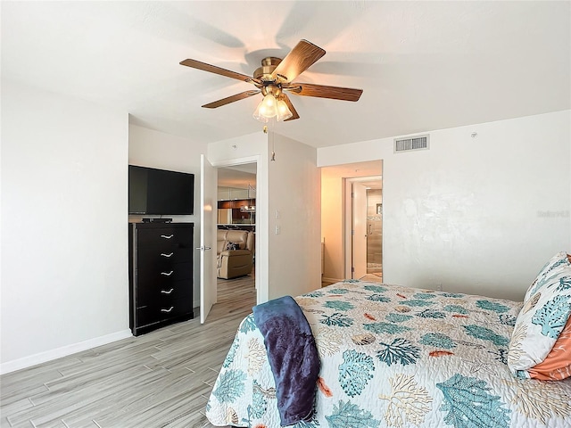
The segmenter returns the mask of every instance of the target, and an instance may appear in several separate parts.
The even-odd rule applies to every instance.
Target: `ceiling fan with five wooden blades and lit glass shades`
[[[317,96],[320,98],[331,98],[343,101],[358,101],[363,93],[362,89],[353,89],[351,87],[339,86],[323,86],[311,83],[294,82],[303,71],[317,62],[319,58],[325,55],[325,50],[317,45],[313,45],[307,40],[301,40],[294,49],[288,53],[282,60],[273,56],[269,56],[261,60],[261,67],[253,72],[252,76],[236,73],[222,69],[215,65],[207,64],[196,60],[181,61],[181,65],[192,67],[193,69],[209,71],[211,73],[226,76],[227,78],[236,78],[246,83],[251,83],[257,89],[244,91],[240,94],[228,96],[213,103],[204,104],[207,109],[216,109],[222,105],[234,103],[244,100],[253,95],[261,94],[263,100],[253,113],[254,119],[267,122],[275,117],[278,121],[299,119],[299,114],[294,109],[294,105],[290,101],[286,92],[294,95]]]

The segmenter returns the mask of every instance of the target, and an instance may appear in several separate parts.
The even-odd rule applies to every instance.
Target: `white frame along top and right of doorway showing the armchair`
[[[268,296],[269,288],[268,288],[268,274],[267,274],[267,259],[268,255],[262,255],[260,257],[259,251],[263,248],[268,248],[268,245],[262,247],[261,243],[264,239],[268,240],[268,234],[265,231],[268,229],[267,226],[267,207],[268,201],[266,200],[266,195],[263,192],[259,192],[261,189],[261,156],[260,155],[252,155],[252,156],[245,156],[244,158],[236,158],[230,159],[225,161],[218,161],[212,162],[212,166],[216,169],[219,168],[226,168],[226,167],[235,167],[236,165],[244,165],[246,163],[255,163],[256,164],[256,233],[254,234],[254,249],[256,251],[256,262],[254,264],[254,284],[256,287],[256,304],[261,303],[264,299],[264,296]],[[264,261],[266,260],[265,264]],[[263,281],[263,275],[265,273],[266,281]],[[218,292],[218,286],[217,286]],[[266,298],[266,300],[268,300]]]

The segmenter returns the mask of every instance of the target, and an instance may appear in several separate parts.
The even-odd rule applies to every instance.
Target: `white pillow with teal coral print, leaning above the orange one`
[[[571,315],[571,265],[563,254],[566,263],[542,269],[517,316],[508,350],[517,377],[530,377],[528,370],[547,358]]]

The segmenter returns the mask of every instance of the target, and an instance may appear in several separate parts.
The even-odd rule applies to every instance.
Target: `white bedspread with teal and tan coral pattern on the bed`
[[[571,378],[521,380],[507,354],[521,303],[344,281],[295,298],[321,371],[297,428],[571,427]],[[280,426],[263,338],[236,333],[206,415],[217,426]]]

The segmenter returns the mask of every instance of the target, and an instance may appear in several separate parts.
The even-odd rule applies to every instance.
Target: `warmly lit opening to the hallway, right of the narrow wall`
[[[321,168],[323,285],[362,277],[381,281],[382,175],[383,161],[380,160]],[[360,214],[353,213],[353,183],[359,184],[363,192]],[[353,218],[357,219],[358,230]],[[357,238],[355,241],[353,236]],[[357,264],[355,257],[360,259]]]

